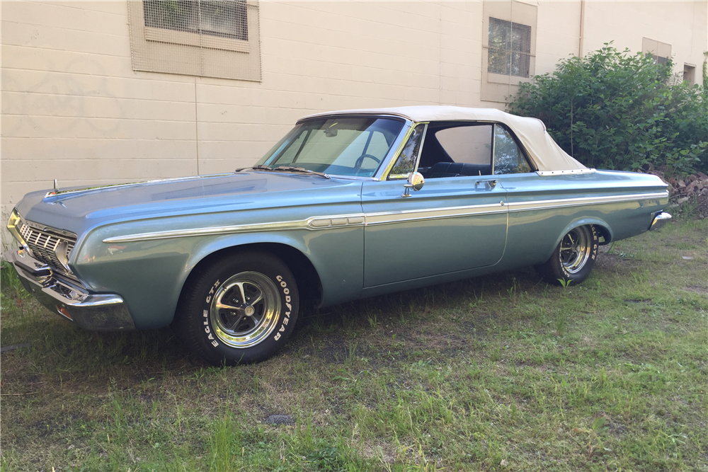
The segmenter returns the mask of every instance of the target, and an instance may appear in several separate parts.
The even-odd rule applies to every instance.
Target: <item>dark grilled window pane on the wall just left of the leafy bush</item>
[[[531,59],[531,27],[489,18],[487,71],[492,74],[528,77]]]

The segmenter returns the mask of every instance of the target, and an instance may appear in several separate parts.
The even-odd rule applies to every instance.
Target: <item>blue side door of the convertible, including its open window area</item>
[[[420,191],[406,197],[404,181],[395,180],[396,171],[409,170],[399,166],[404,153],[392,171],[394,180],[362,186],[364,287],[494,265],[504,253],[506,191],[490,175],[491,125],[430,123],[416,129],[424,126],[428,129],[417,138],[420,156],[415,144],[404,148],[404,153],[416,149],[421,171],[428,175]],[[438,137],[453,127],[468,129],[448,137],[443,147]],[[472,158],[478,163],[463,162]],[[476,175],[460,173],[463,167]]]

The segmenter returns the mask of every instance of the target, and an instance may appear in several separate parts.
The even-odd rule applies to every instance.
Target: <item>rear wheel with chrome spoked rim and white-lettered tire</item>
[[[590,275],[597,255],[598,234],[595,226],[578,226],[568,231],[551,257],[535,268],[549,284],[579,284]]]

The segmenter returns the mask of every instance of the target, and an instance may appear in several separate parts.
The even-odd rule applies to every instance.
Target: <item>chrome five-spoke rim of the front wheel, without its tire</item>
[[[210,321],[222,343],[243,349],[268,338],[280,309],[278,287],[270,277],[240,272],[219,285],[211,301]]]

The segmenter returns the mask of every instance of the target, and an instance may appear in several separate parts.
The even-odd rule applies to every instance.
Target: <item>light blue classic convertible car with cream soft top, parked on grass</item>
[[[539,120],[421,106],[304,117],[256,166],[29,193],[5,254],[91,330],[176,328],[213,364],[256,362],[317,306],[535,265],[582,282],[598,245],[670,219],[654,175],[596,171]]]

